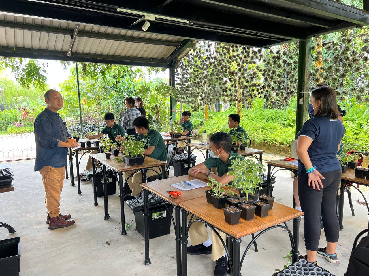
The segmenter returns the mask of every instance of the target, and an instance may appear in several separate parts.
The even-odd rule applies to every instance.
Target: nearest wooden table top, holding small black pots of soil
[[[207,203],[205,196],[180,202],[179,206],[237,239],[304,215],[299,210],[274,202],[267,217],[254,216],[251,220],[240,218],[238,224],[231,225],[225,222],[223,209],[216,209]]]

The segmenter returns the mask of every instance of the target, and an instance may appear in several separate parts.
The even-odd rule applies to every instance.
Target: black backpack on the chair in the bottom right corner
[[[369,228],[356,236],[345,276],[369,275],[369,236],[363,237],[356,246],[359,238],[367,232]]]

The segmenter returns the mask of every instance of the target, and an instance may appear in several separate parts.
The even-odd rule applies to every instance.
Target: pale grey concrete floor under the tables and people
[[[197,163],[203,160],[199,156]],[[264,159],[276,159],[278,156],[264,155]],[[86,163],[82,159],[82,166]],[[45,224],[46,208],[41,176],[33,171],[34,160],[12,162],[14,171],[14,192],[0,194],[0,221],[11,224],[16,233],[7,234],[0,228],[0,239],[21,237],[21,276],[91,276],[91,275],[175,275],[176,252],[174,229],[170,235],[150,240],[151,265],[145,266],[144,239],[135,230],[135,218],[126,206],[126,222],[133,225],[127,236],[120,236],[120,204],[118,188],[115,195],[108,197],[110,219],[104,220],[103,198],[99,205],[93,205],[93,191],[90,183],[82,184],[82,194],[77,194],[77,186],[70,186],[70,180],[64,181],[61,199],[62,213],[72,214],[76,223],[65,229],[48,230]],[[171,169],[170,176],[173,176]],[[273,195],[276,201],[292,205],[292,178],[289,172],[276,174]],[[369,190],[361,188],[366,196]],[[345,195],[346,196],[346,195]],[[352,189],[352,198],[361,199]],[[352,243],[356,235],[368,226],[366,207],[354,202],[355,217],[351,216],[347,196],[345,197],[344,227],[340,232],[339,264],[331,264],[318,258],[320,266],[335,275],[346,271]],[[292,229],[292,221],[287,223]],[[325,246],[324,232],[321,232],[321,246]],[[242,238],[243,251],[251,237]],[[305,254],[303,220],[300,225],[300,253]],[[258,240],[259,252],[254,248],[246,255],[242,266],[242,275],[272,275],[275,269],[283,268],[286,261],[283,256],[291,250],[287,233],[273,229]],[[210,256],[188,256],[188,275],[213,275],[215,262]],[[0,272],[1,275],[1,272]]]

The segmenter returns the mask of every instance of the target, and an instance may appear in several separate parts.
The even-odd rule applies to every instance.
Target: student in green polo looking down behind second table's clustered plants
[[[133,127],[135,128],[135,131],[137,132],[136,140],[140,141],[145,138],[145,134],[148,134],[147,138],[147,149],[144,151],[144,155],[147,155],[148,157],[165,161],[166,162],[166,146],[164,144],[164,140],[160,134],[159,131],[153,130],[152,128],[149,128],[149,121],[144,117],[137,117],[133,121]],[[152,170],[146,171],[146,177],[155,176],[158,173],[161,175],[161,167],[153,167],[150,168]],[[130,195],[124,196],[124,201],[130,200],[132,198],[137,198],[141,196],[142,191],[142,174],[141,171],[138,171],[133,176],[129,177],[131,175],[132,171],[127,171],[123,173],[125,179],[127,180],[128,185],[130,186],[132,193]],[[129,178],[128,178],[129,177]]]

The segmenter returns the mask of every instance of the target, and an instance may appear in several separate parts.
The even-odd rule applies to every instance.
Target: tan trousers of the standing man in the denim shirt
[[[59,216],[60,194],[63,189],[65,167],[45,166],[40,170],[45,189],[45,205],[50,217]]]

